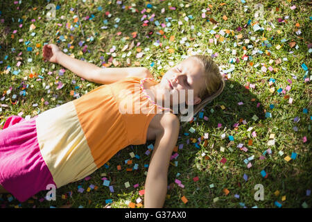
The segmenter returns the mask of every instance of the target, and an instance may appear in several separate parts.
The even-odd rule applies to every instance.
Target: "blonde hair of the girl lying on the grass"
[[[194,58],[200,62],[205,70],[205,86],[200,90],[198,97],[201,101],[193,107],[193,117],[196,116],[205,106],[219,96],[225,87],[225,80],[220,74],[220,70],[216,62],[212,60],[210,56],[196,55],[190,56],[189,58]],[[177,114],[177,117],[181,117],[181,113]],[[183,126],[186,124],[185,122]]]

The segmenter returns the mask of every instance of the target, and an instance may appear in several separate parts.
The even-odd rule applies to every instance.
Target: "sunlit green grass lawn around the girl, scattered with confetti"
[[[78,4],[78,2],[80,2]],[[175,7],[175,10],[168,8],[168,3]],[[10,115],[17,115],[22,112],[21,117],[31,115],[34,117],[40,112],[54,108],[56,105],[67,103],[76,99],[70,95],[71,90],[79,96],[91,91],[98,84],[89,83],[71,73],[65,71],[63,76],[59,76],[59,65],[42,60],[42,46],[46,43],[55,43],[61,49],[67,49],[68,54],[73,54],[76,58],[85,58],[89,62],[101,66],[102,62],[106,62],[111,58],[110,52],[113,46],[116,47],[114,57],[120,62],[119,67],[126,67],[126,58],[130,58],[131,67],[135,67],[135,62],[139,62],[139,66],[148,67],[155,78],[160,78],[162,72],[183,60],[181,56],[191,55],[193,52],[209,54],[211,49],[213,53],[218,53],[214,60],[223,70],[231,68],[234,65],[234,71],[227,76],[227,85],[223,94],[217,99],[209,103],[204,112],[204,116],[208,117],[208,121],[204,119],[196,119],[193,123],[187,123],[187,126],[180,130],[180,137],[177,145],[184,144],[183,148],[178,151],[179,156],[171,162],[168,172],[168,198],[166,198],[164,207],[277,207],[275,201],[279,201],[282,207],[302,207],[302,203],[306,203],[311,207],[311,196],[306,196],[306,190],[311,189],[311,85],[310,81],[304,81],[309,78],[310,73],[305,75],[301,65],[304,63],[308,69],[311,68],[311,53],[309,53],[308,45],[311,44],[311,4],[309,1],[266,1],[263,3],[263,19],[254,17],[256,12],[255,3],[246,0],[241,1],[150,1],[153,8],[150,12],[145,12],[146,19],[155,13],[153,22],[148,22],[148,26],[142,26],[143,21],[141,11],[146,8],[146,1],[122,1],[119,5],[116,1],[89,1],[86,3],[81,1],[52,1],[55,6],[60,6],[56,10],[55,20],[47,21],[46,9],[47,1],[22,1],[21,4],[14,4],[13,1],[0,3],[1,17],[4,22],[0,22],[0,125],[5,123]],[[123,8],[122,6],[131,6],[138,12]],[[225,3],[221,6],[220,3]],[[183,4],[183,6],[181,5]],[[186,7],[189,4],[189,7]],[[212,8],[208,5],[211,4]],[[291,6],[295,5],[295,10],[291,10]],[[17,6],[19,10],[17,10]],[[102,10],[98,10],[98,6]],[[211,8],[206,12],[206,18],[202,18],[202,10]],[[73,13],[70,12],[74,8]],[[83,27],[81,28],[73,22],[73,16],[78,15]],[[164,8],[164,12],[162,12]],[[147,9],[147,8],[146,8]],[[247,9],[247,10],[245,10]],[[245,11],[244,11],[245,10]],[[109,11],[112,16],[107,17],[105,12]],[[44,12],[44,14],[43,14]],[[211,12],[210,14],[208,12]],[[184,15],[185,14],[185,15]],[[86,16],[92,19],[85,19]],[[227,20],[223,19],[223,15],[227,16]],[[185,21],[184,17],[189,16],[189,21]],[[278,22],[278,18],[284,19],[288,16],[286,22]],[[41,19],[39,19],[41,17]],[[14,21],[12,20],[14,18]],[[116,18],[120,21],[117,23]],[[207,22],[207,19],[214,18],[218,24]],[[18,22],[18,19],[23,19]],[[35,19],[35,22],[31,20]],[[103,20],[107,19],[107,24]],[[145,19],[144,19],[145,20]],[[162,28],[156,26],[155,21],[159,24],[171,23],[171,26]],[[245,24],[251,20],[248,26]],[[182,25],[177,22],[181,21]],[[263,31],[254,31],[253,25],[258,22],[263,27]],[[273,28],[268,22],[271,22]],[[76,26],[72,31],[67,28],[67,23]],[[300,35],[295,33],[295,24],[300,24]],[[19,24],[22,27],[19,28]],[[31,24],[36,26],[35,30],[30,31]],[[62,26],[58,26],[62,24]],[[114,27],[114,25],[118,27]],[[107,28],[101,28],[107,26]],[[216,26],[216,28],[214,28]],[[241,31],[237,28],[241,26]],[[209,39],[216,38],[216,34],[209,31],[214,28],[216,34],[219,31],[229,30],[229,35],[225,34],[224,42],[217,41],[217,44],[209,43]],[[12,33],[17,30],[12,38]],[[83,36],[83,33],[85,36]],[[160,35],[159,31],[164,31],[164,35]],[[234,35],[232,35],[232,31]],[[280,33],[278,33],[280,31]],[[117,33],[121,32],[120,35]],[[137,32],[137,37],[133,38],[132,33]],[[150,32],[153,32],[150,34]],[[32,36],[31,33],[35,33]],[[200,35],[201,33],[201,35]],[[241,34],[242,37],[237,39],[236,36]],[[64,41],[60,40],[63,35]],[[175,36],[174,42],[169,41],[171,35]],[[220,35],[220,34],[219,34]],[[146,37],[148,36],[148,37]],[[166,38],[164,37],[166,36]],[[71,40],[71,37],[72,40]],[[94,40],[87,40],[93,37]],[[187,40],[180,42],[182,38]],[[254,38],[253,38],[254,37]],[[264,42],[263,37],[268,42]],[[23,42],[19,42],[23,39]],[[254,39],[254,40],[252,40]],[[286,42],[283,42],[284,39]],[[250,40],[246,43],[245,40]],[[28,45],[25,42],[30,41]],[[79,46],[80,41],[85,41],[83,46],[87,45],[87,51],[83,51],[83,46]],[[130,50],[121,51],[125,44],[134,41],[135,46]],[[161,42],[162,46],[155,45],[155,42]],[[282,41],[282,42],[281,42]],[[291,48],[289,42],[296,42],[296,46]],[[140,42],[140,45],[137,44]],[[236,42],[237,46],[234,46]],[[241,42],[241,44],[240,44]],[[73,49],[69,49],[67,44],[71,44]],[[271,44],[270,47],[266,44]],[[39,48],[36,44],[41,44]],[[248,45],[252,48],[248,48]],[[277,45],[281,48],[277,49]],[[244,50],[246,47],[246,55],[252,56],[252,60],[243,60]],[[27,47],[33,47],[33,51],[27,51]],[[141,48],[144,56],[136,58],[137,48]],[[146,50],[149,49],[149,50]],[[174,49],[173,53],[169,53],[168,49]],[[232,55],[232,50],[236,50],[236,55]],[[199,51],[198,51],[199,50]],[[252,51],[261,50],[262,54]],[[270,54],[266,52],[270,50]],[[132,52],[130,56],[123,57],[123,53]],[[290,53],[293,51],[293,53]],[[22,53],[20,58],[18,54]],[[38,55],[36,53],[39,52]],[[7,56],[7,58],[6,58]],[[103,59],[101,60],[101,56]],[[28,58],[32,58],[32,62],[28,62]],[[230,59],[239,58],[239,62],[230,63]],[[21,65],[17,67],[17,60],[20,59]],[[280,63],[275,61],[281,59]],[[270,60],[272,62],[270,63]],[[153,67],[151,66],[154,62]],[[253,62],[253,65],[250,65]],[[255,65],[259,64],[258,67]],[[272,67],[275,71],[261,71],[264,64],[266,68]],[[11,67],[8,71],[8,66]],[[112,64],[112,67],[114,65]],[[43,70],[44,69],[44,70]],[[20,70],[19,74],[13,74],[13,71]],[[52,72],[49,75],[49,71]],[[30,78],[30,74],[37,74],[35,78]],[[293,76],[297,78],[293,78]],[[276,81],[272,85],[275,92],[269,91],[268,85],[270,78]],[[288,83],[288,79],[292,80],[292,84]],[[72,83],[75,80],[76,83]],[[24,82],[24,83],[23,83]],[[57,89],[59,82],[65,84],[62,89]],[[255,88],[246,89],[248,83],[254,84]],[[26,95],[20,95],[21,87],[28,85],[25,92]],[[49,85],[50,88],[46,89]],[[287,85],[291,86],[291,90],[286,93],[279,93],[277,89],[285,89]],[[6,94],[8,89],[12,87],[10,94]],[[48,90],[49,93],[48,93]],[[16,94],[16,99],[13,95]],[[289,99],[284,96],[290,96],[293,103],[288,103]],[[45,105],[44,101],[49,104]],[[254,99],[252,101],[251,99]],[[16,104],[13,104],[15,103]],[[243,102],[243,105],[237,103]],[[33,104],[37,103],[37,106]],[[260,103],[257,108],[257,103]],[[275,107],[270,108],[273,104]],[[4,107],[3,105],[8,105]],[[225,106],[223,110],[220,105]],[[303,110],[308,112],[304,113]],[[211,112],[211,109],[214,112]],[[272,114],[271,118],[266,118],[265,112]],[[259,119],[254,121],[252,117],[257,115]],[[198,117],[198,116],[197,116]],[[295,117],[299,117],[300,121],[295,123]],[[247,123],[239,123],[240,119],[244,119]],[[221,128],[217,128],[218,123],[222,124]],[[234,123],[239,123],[234,128]],[[293,127],[297,127],[297,131]],[[2,127],[2,126],[1,126]],[[190,133],[189,128],[195,128],[196,133]],[[252,130],[248,130],[252,128]],[[252,136],[252,132],[257,133],[257,137]],[[189,136],[184,133],[190,133]],[[187,139],[199,138],[209,133],[207,147],[202,146],[196,148],[193,143],[187,144]],[[221,139],[221,135],[225,133],[225,139]],[[268,146],[270,134],[275,134],[275,146]],[[229,135],[234,137],[234,142],[229,141]],[[306,137],[307,142],[303,142],[302,138]],[[252,139],[252,145],[248,146],[248,141]],[[145,172],[147,169],[144,164],[148,164],[150,156],[145,155],[147,146],[145,145],[129,146],[110,161],[108,168],[101,167],[98,171],[92,173],[91,179],[73,182],[64,187],[60,187],[56,192],[56,201],[40,201],[47,191],[41,191],[36,195],[37,199],[30,198],[24,203],[17,200],[8,201],[7,194],[0,196],[0,205],[5,207],[61,207],[63,205],[71,205],[71,207],[128,207],[129,201],[135,203],[139,196],[139,190],[144,189],[146,179]],[[247,152],[237,148],[238,144],[244,144],[248,148]],[[220,147],[225,148],[224,152],[220,151]],[[229,148],[232,148],[230,151]],[[268,148],[272,153],[266,153],[264,160],[259,160],[260,156]],[[279,151],[283,151],[284,155],[279,155]],[[130,159],[129,153],[135,153],[141,158],[137,160],[133,158],[133,167],[135,163],[139,164],[139,169],[127,172],[128,166],[125,160]],[[295,160],[286,162],[284,157],[297,153]],[[209,160],[202,156],[205,153]],[[251,160],[252,167],[248,169],[244,160],[254,155]],[[222,164],[220,160],[225,157],[227,162]],[[177,167],[175,167],[177,161]],[[117,170],[117,165],[121,165],[121,171]],[[262,170],[268,173],[268,178],[263,178],[260,174]],[[103,174],[110,180],[110,185],[114,186],[114,193],[111,193],[108,187],[103,186]],[[177,177],[177,173],[180,176]],[[244,173],[248,175],[248,180],[243,179]],[[102,176],[101,176],[102,175]],[[197,182],[193,178],[198,176]],[[181,180],[184,188],[175,184],[175,179]],[[125,188],[124,183],[130,182],[130,187]],[[133,185],[139,184],[134,188]],[[213,188],[209,185],[214,184]],[[257,190],[254,186],[261,184],[264,187],[264,200],[254,200],[254,194]],[[78,186],[82,186],[85,191],[83,194],[78,192]],[[97,190],[87,192],[89,185],[98,186]],[[225,195],[223,189],[227,188],[229,194]],[[275,195],[275,191],[279,191],[279,195]],[[72,191],[69,196],[67,192]],[[67,194],[66,199],[62,199],[62,194]],[[239,198],[234,195],[238,194]],[[184,204],[181,197],[185,196],[189,201]],[[286,196],[286,200],[282,201],[282,196]],[[214,198],[218,197],[218,201],[214,202]],[[112,203],[106,204],[105,200],[112,199]],[[144,197],[141,197],[144,199]],[[144,203],[144,201],[142,201]]]

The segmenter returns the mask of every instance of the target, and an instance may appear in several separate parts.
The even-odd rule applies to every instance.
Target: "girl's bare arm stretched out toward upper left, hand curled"
[[[55,44],[44,45],[42,52],[45,60],[58,63],[72,71],[77,76],[94,83],[110,84],[130,76],[141,78],[153,77],[145,67],[101,69],[92,63],[71,58],[71,56],[63,53]]]

